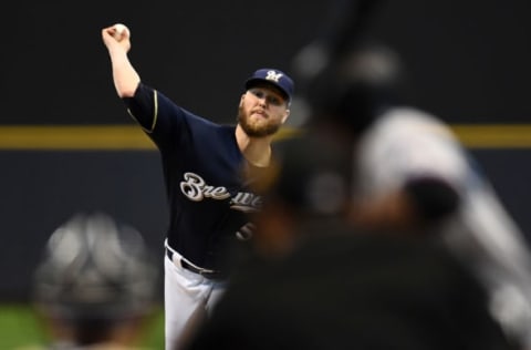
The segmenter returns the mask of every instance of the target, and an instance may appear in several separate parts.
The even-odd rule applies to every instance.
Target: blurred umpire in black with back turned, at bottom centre
[[[283,145],[261,188],[256,254],[187,349],[516,349],[433,236],[353,228],[336,151],[315,137]]]

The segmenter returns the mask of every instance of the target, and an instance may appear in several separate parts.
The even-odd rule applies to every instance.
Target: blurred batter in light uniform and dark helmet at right
[[[405,103],[388,48],[358,44],[315,80],[310,126],[354,145],[351,219],[365,228],[430,231],[489,291],[504,331],[531,349],[531,258],[487,176],[441,120]]]

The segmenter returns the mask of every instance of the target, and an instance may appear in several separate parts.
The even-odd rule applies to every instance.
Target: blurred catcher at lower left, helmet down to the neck
[[[157,268],[140,234],[76,214],[50,237],[33,282],[45,349],[136,349],[152,320]]]

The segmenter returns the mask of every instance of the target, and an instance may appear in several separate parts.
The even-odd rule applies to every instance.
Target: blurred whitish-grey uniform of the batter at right
[[[531,346],[531,258],[522,231],[451,130],[425,112],[387,111],[358,144],[354,198],[374,199],[407,179],[438,177],[462,196],[461,209],[436,229],[490,290],[508,332]]]

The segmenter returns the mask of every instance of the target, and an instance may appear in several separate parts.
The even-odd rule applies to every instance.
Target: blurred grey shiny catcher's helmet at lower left
[[[136,229],[105,214],[77,214],[51,235],[33,296],[54,319],[123,320],[150,310],[157,275]]]

